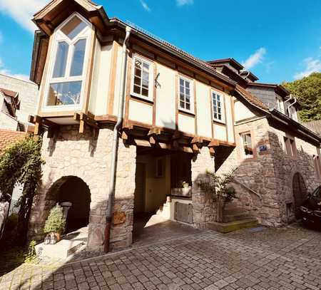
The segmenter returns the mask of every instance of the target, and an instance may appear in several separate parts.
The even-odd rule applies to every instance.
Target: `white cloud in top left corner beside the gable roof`
[[[11,16],[24,29],[34,32],[36,26],[31,17],[49,0],[0,0],[0,12]]]

